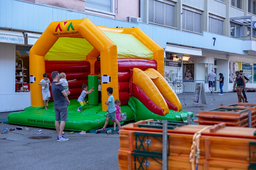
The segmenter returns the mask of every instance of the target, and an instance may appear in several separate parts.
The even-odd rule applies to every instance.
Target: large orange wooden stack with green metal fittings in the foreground
[[[180,123],[180,125],[179,125]],[[157,170],[162,168],[161,121],[145,120],[123,126],[120,131],[120,170]],[[198,170],[256,169],[255,129],[186,125],[168,121],[168,169],[192,170],[190,163],[193,136],[202,130]]]

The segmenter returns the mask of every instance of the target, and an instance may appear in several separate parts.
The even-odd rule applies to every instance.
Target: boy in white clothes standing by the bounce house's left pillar
[[[39,85],[42,85],[42,94],[43,94],[43,103],[45,104],[45,110],[47,109],[47,106],[49,106],[49,100],[51,99],[51,93],[49,86],[51,86],[51,82],[48,79],[49,76],[47,73],[43,74],[43,79],[38,83]]]

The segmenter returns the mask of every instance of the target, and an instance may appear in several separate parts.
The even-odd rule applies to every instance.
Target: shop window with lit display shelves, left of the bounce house
[[[16,46],[15,50],[15,92],[29,92],[29,50],[28,46]]]

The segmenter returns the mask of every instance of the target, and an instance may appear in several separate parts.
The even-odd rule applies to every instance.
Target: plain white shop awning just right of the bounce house
[[[181,46],[175,46],[175,45],[169,45],[169,44],[166,45],[166,51],[181,53],[181,54],[189,54],[189,55],[202,55],[201,49],[181,47]]]

